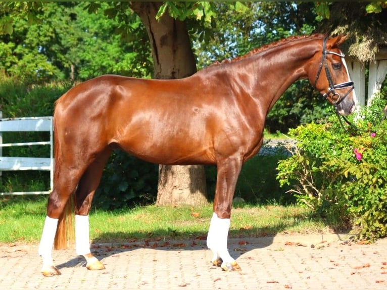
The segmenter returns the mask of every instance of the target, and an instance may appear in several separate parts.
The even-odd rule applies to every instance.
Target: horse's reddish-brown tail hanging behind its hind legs
[[[54,114],[54,158],[55,158],[55,169],[54,169],[54,181],[58,178],[60,172],[59,168],[62,163],[62,150],[61,143],[59,142],[56,118]],[[55,182],[54,182],[55,183]],[[74,221],[73,221],[73,212],[74,212],[74,194],[71,193],[69,199],[66,202],[63,213],[59,217],[57,232],[55,234],[54,240],[54,249],[66,249],[67,242],[69,240],[74,240]]]

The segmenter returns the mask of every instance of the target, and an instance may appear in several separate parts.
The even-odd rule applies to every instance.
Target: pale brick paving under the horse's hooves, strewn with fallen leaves
[[[204,240],[92,245],[106,266],[54,251],[60,276],[43,277],[38,245],[0,245],[0,289],[387,289],[387,239],[341,234],[229,239],[241,272],[212,266]],[[156,243],[156,244],[155,244]]]

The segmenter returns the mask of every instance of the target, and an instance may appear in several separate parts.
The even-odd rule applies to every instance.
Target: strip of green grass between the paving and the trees
[[[47,196],[8,197],[0,205],[0,243],[38,243],[44,223]],[[204,239],[212,206],[138,207],[90,213],[94,242],[133,240]],[[306,208],[249,206],[234,208],[229,237],[257,237],[278,233],[328,233],[343,229],[338,221],[313,217]]]

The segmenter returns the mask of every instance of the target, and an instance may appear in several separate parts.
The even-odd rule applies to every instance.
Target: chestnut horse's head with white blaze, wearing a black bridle
[[[356,94],[344,54],[338,48],[346,36],[324,38],[318,60],[309,71],[309,79],[337,113],[347,116],[356,109]],[[315,59],[315,58],[313,58]]]

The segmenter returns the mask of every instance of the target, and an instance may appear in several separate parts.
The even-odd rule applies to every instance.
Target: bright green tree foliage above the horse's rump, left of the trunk
[[[100,3],[94,13],[88,13],[88,5],[45,3],[33,11],[35,21],[16,8],[0,6],[13,19],[13,33],[0,33],[0,71],[25,83],[107,73],[149,77],[151,50],[139,18],[130,9],[109,13],[115,3]]]

